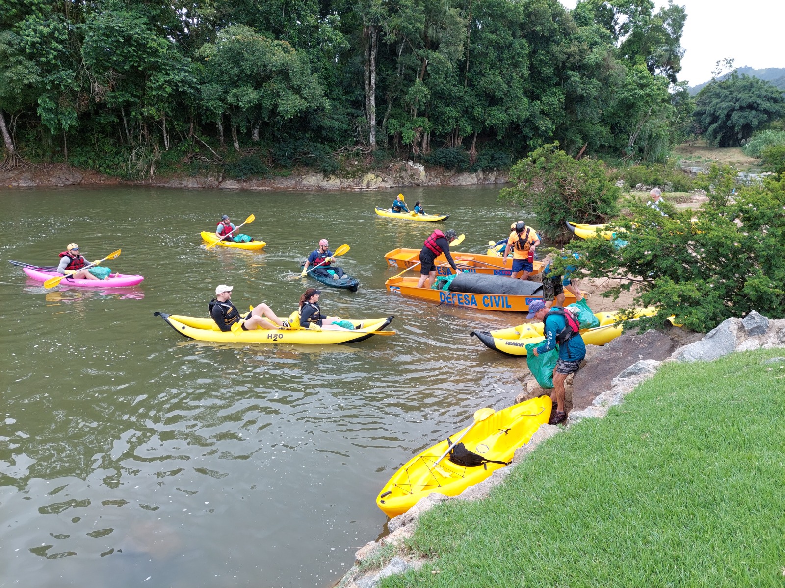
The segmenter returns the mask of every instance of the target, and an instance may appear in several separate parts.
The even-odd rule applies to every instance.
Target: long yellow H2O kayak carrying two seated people
[[[257,328],[254,331],[224,332],[212,318],[185,317],[180,314],[153,313],[161,317],[167,325],[188,339],[213,341],[215,343],[290,343],[292,345],[334,345],[335,343],[356,343],[374,336],[377,331],[392,322],[394,315],[387,318],[368,318],[364,321],[350,321],[354,331],[311,331],[308,328]]]

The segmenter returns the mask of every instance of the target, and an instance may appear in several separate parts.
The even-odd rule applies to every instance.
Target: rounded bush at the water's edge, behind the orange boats
[[[570,238],[568,221],[604,223],[619,213],[621,190],[608,167],[593,159],[576,161],[558,143],[513,165],[509,180],[515,186],[504,188],[500,198],[532,210],[538,232],[558,244]]]

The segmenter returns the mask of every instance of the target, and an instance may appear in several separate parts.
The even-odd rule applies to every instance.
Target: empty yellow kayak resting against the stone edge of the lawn
[[[504,408],[470,427],[459,441],[470,452],[502,463],[467,467],[453,463],[450,454],[436,463],[447,451],[445,439],[404,463],[379,492],[376,506],[388,517],[397,517],[431,492],[456,496],[467,487],[483,481],[512,461],[515,450],[525,445],[540,425],[548,422],[551,406],[550,397],[541,396]],[[449,437],[451,443],[455,443],[466,430],[452,434]]]

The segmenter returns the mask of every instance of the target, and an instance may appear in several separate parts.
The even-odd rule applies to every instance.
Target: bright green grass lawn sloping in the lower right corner
[[[438,560],[382,586],[785,586],[783,355],[664,365],[488,499],[425,514],[408,545]]]

